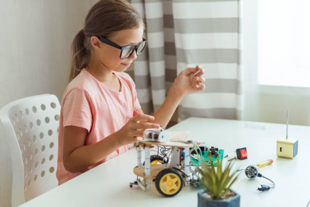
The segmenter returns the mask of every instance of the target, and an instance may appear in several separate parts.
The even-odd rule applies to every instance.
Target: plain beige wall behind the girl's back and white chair
[[[95,0],[0,0],[0,108],[13,100],[52,93],[61,100],[70,44]],[[0,144],[5,146],[0,131]],[[0,152],[0,206],[11,204],[9,152]]]

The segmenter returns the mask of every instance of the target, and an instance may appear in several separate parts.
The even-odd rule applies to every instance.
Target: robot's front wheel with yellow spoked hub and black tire
[[[156,189],[162,195],[171,197],[180,192],[183,186],[183,179],[179,172],[173,168],[160,171],[155,180]]]

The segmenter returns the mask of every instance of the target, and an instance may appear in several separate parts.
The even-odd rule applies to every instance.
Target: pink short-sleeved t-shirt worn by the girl
[[[137,99],[135,84],[130,76],[126,73],[113,73],[121,83],[121,91],[119,92],[107,88],[85,69],[65,89],[61,101],[58,135],[56,177],[59,185],[133,147],[133,144],[120,147],[100,162],[79,172],[71,173],[63,165],[63,132],[65,126],[86,128],[88,134],[85,145],[90,145],[118,131],[134,116],[134,111],[141,108]]]

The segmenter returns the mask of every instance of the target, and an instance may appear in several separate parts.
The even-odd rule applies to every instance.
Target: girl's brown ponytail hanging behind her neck
[[[90,59],[90,51],[85,47],[85,31],[84,28],[79,31],[73,39],[71,45],[72,63],[69,82],[78,76],[83,68],[85,68]]]

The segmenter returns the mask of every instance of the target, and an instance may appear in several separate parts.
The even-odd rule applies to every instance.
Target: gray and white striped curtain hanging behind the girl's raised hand
[[[131,0],[145,18],[147,51],[134,62],[138,99],[155,112],[177,74],[200,64],[206,90],[187,95],[172,121],[190,116],[242,119],[241,0]]]

